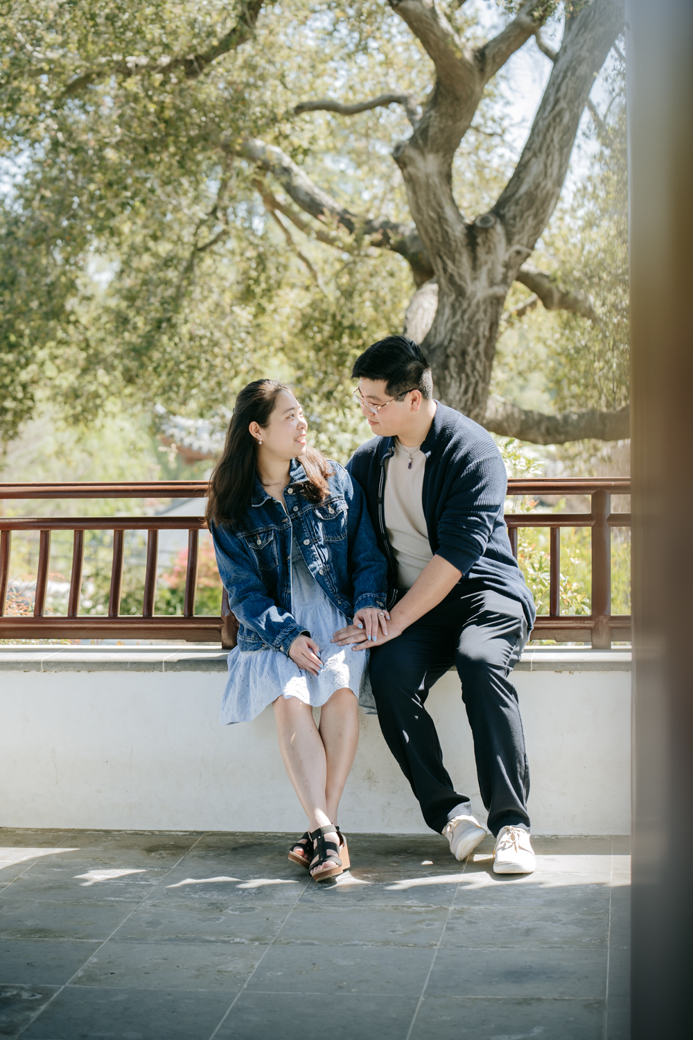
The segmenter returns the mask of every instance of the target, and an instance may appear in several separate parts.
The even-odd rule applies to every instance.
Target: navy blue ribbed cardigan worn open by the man
[[[461,593],[490,589],[523,604],[532,628],[532,594],[510,549],[503,519],[507,475],[492,437],[465,415],[436,401],[421,450],[426,456],[423,506],[431,552],[461,571]],[[374,437],[356,448],[347,470],[366,493],[378,548],[388,560],[388,583],[396,587],[384,520],[385,459],[393,437]],[[394,602],[394,596],[389,603]]]

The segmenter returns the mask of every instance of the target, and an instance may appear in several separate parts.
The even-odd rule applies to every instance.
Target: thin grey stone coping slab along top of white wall
[[[194,646],[0,647],[0,672],[225,672],[226,651]],[[515,672],[630,672],[631,648],[527,647]]]

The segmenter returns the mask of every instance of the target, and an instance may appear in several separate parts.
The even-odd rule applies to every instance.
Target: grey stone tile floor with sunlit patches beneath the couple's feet
[[[0,829],[0,1036],[628,1038],[628,839],[536,873],[353,835],[316,884],[281,834]]]

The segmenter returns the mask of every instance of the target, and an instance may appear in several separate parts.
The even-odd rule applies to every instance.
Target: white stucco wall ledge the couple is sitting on
[[[295,831],[305,820],[268,706],[219,725],[226,652],[199,644],[0,647],[0,827]],[[627,834],[631,652],[529,647],[512,681],[535,834]],[[127,678],[126,678],[127,673]],[[454,671],[426,708],[457,791],[485,821]],[[426,833],[375,716],[361,712],[348,833]]]

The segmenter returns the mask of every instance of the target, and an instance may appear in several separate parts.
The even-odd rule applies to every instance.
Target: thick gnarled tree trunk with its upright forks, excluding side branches
[[[435,317],[422,345],[439,398],[482,422],[505,298],[556,206],[580,116],[622,24],[622,7],[619,0],[594,0],[566,19],[563,44],[516,170],[494,209],[470,223],[452,194],[451,164],[487,82],[489,54],[477,53],[475,60],[458,42],[448,47],[452,30],[439,16],[435,20],[438,12],[426,0],[391,2],[437,72],[417,129],[393,153],[438,287]],[[522,14],[529,16],[531,6]],[[532,30],[524,24],[515,29],[519,38],[525,32]],[[430,294],[426,298],[430,311]],[[578,309],[575,301],[571,309]],[[407,327],[412,321],[414,313]]]

